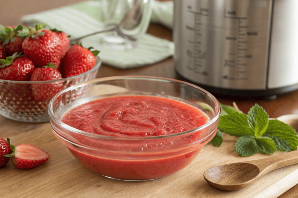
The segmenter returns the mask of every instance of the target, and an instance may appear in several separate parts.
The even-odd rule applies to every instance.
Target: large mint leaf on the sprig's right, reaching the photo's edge
[[[268,134],[287,141],[292,151],[297,150],[298,137],[292,126],[279,120],[269,120],[268,128],[264,135]]]

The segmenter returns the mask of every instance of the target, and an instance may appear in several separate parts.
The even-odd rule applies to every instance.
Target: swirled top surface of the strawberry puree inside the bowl
[[[118,96],[72,109],[62,121],[76,129],[110,136],[158,136],[184,132],[209,118],[197,108],[162,97]]]

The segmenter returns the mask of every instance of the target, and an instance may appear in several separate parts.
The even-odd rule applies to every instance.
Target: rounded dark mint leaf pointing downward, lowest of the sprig
[[[243,135],[236,140],[235,150],[240,156],[250,156],[260,151],[253,135]]]

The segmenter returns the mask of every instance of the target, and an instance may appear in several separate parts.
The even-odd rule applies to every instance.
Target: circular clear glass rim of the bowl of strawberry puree
[[[63,122],[61,122],[58,118],[56,118],[56,116],[54,115],[53,109],[52,109],[52,105],[54,100],[60,96],[61,94],[70,91],[72,89],[78,88],[78,87],[83,87],[85,85],[90,85],[93,83],[98,83],[98,82],[104,82],[104,81],[108,81],[108,80],[158,80],[158,81],[162,81],[162,82],[173,82],[173,83],[180,83],[180,84],[184,84],[184,85],[188,85],[191,87],[194,87],[196,89],[198,89],[199,91],[201,91],[202,93],[206,94],[209,98],[212,99],[212,101],[215,103],[215,110],[217,110],[217,112],[215,112],[215,117],[212,118],[210,121],[208,121],[206,124],[199,126],[197,128],[191,129],[191,130],[187,130],[184,132],[179,132],[179,133],[174,133],[174,134],[167,134],[167,135],[159,135],[159,136],[145,136],[145,137],[116,137],[116,136],[105,136],[105,135],[100,135],[100,134],[93,134],[93,133],[89,133],[89,132],[85,132],[79,129],[76,129],[72,126],[69,126]],[[150,139],[162,139],[162,138],[169,138],[169,137],[176,137],[176,136],[180,136],[180,135],[184,135],[184,134],[189,134],[195,131],[199,131],[202,130],[204,128],[207,128],[208,126],[210,126],[212,123],[214,123],[220,116],[221,114],[221,108],[220,108],[220,104],[218,102],[218,100],[212,95],[210,94],[208,91],[204,90],[201,87],[198,87],[196,85],[193,85],[191,83],[187,83],[181,80],[176,80],[176,79],[170,79],[170,78],[164,78],[164,77],[151,77],[151,76],[138,76],[138,75],[131,75],[131,76],[111,76],[111,77],[102,77],[102,78],[95,78],[93,80],[88,80],[86,82],[83,83],[79,83],[73,86],[70,86],[66,89],[63,89],[62,91],[58,92],[49,102],[48,105],[48,113],[49,113],[49,117],[50,117],[50,123],[52,126],[52,120],[57,123],[60,127],[72,132],[72,133],[76,133],[79,135],[83,135],[83,136],[87,136],[87,137],[92,137],[92,138],[97,138],[97,139],[102,139],[102,140],[150,140]],[[55,130],[53,130],[55,132]],[[55,132],[57,135],[61,136],[60,134],[58,134],[57,132]],[[216,133],[216,131],[215,131]],[[201,140],[198,141],[202,141],[206,138],[208,138],[210,134],[207,134],[206,136],[202,137]],[[71,141],[71,140],[69,140]],[[71,141],[72,142],[72,141]],[[196,141],[197,142],[197,141]]]

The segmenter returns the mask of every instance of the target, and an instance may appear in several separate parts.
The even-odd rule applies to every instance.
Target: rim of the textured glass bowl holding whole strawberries
[[[67,77],[67,78],[61,78],[61,79],[56,79],[56,80],[45,80],[45,81],[17,81],[17,80],[2,80],[0,79],[0,82],[5,82],[5,83],[15,83],[15,84],[41,84],[41,83],[57,83],[57,82],[64,82],[67,80],[71,80],[71,79],[76,79],[76,78],[80,78],[86,74],[92,73],[94,71],[96,71],[97,69],[99,69],[99,67],[101,66],[102,62],[99,56],[95,56],[95,64],[92,67],[92,69],[81,73],[79,75],[76,76],[71,76],[71,77]]]

